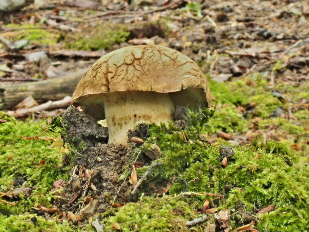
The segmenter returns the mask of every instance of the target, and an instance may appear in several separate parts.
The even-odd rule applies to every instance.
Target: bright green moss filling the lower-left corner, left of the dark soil
[[[60,134],[44,132],[43,121],[24,123],[2,112],[0,118],[7,121],[0,124],[0,192],[34,187],[28,197],[20,194],[13,199],[1,198],[15,202],[15,206],[0,202],[0,232],[73,231],[66,224],[56,224],[31,210],[38,204],[51,208],[52,200],[59,198],[50,192],[53,183],[69,177],[70,167],[64,167],[61,161],[64,149],[53,146]]]

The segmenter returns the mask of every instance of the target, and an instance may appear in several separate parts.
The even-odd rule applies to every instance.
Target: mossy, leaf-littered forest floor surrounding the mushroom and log
[[[103,220],[107,225],[106,231],[189,231],[186,222],[200,217],[197,216],[197,212],[206,212],[210,219],[208,224],[202,224],[195,230],[227,232],[232,230],[231,228],[235,230],[254,222],[258,225],[256,229],[260,231],[306,231],[307,227],[302,228],[300,224],[302,220],[306,222],[308,216],[302,214],[300,210],[306,209],[302,209],[298,201],[303,198],[303,202],[308,201],[305,199],[309,191],[308,184],[303,185],[305,176],[308,175],[305,174],[308,168],[303,170],[303,166],[308,167],[309,161],[309,3],[293,0],[145,0],[140,5],[136,3],[135,6],[133,3],[117,0],[107,0],[103,3],[91,0],[51,0],[35,3],[31,1],[14,12],[2,12],[0,110],[15,117],[20,116],[20,110],[26,110],[22,116],[30,116],[31,120],[23,123],[1,114],[0,192],[3,196],[0,199],[5,201],[3,200],[0,207],[0,219],[3,217],[2,221],[10,225],[16,221],[18,215],[22,215],[19,217],[19,223],[15,224],[14,231],[26,231],[25,228],[39,231],[37,225],[49,228],[50,231],[71,231],[74,227],[89,231],[94,229],[85,222],[89,222],[94,211],[105,212],[105,208],[109,209],[112,206],[111,212],[105,212],[104,216],[98,218],[98,221]],[[195,122],[192,129],[193,125],[188,122],[188,126],[182,131],[185,141],[179,143],[182,144],[183,151],[190,154],[195,152],[200,158],[192,155],[195,158],[186,157],[188,167],[173,167],[178,176],[178,182],[173,186],[168,185],[168,181],[166,184],[166,180],[174,181],[170,171],[173,165],[166,160],[174,159],[171,151],[174,151],[176,146],[170,147],[166,140],[177,143],[173,137],[175,131],[163,129],[166,134],[160,134],[161,132],[153,128],[150,130],[152,138],[161,136],[161,139],[155,141],[151,140],[149,135],[143,136],[142,132],[136,132],[147,140],[142,147],[135,144],[128,148],[111,148],[106,144],[97,147],[98,143],[105,140],[104,135],[99,136],[101,140],[92,142],[90,138],[93,138],[93,135],[85,136],[84,147],[80,141],[64,145],[62,139],[67,142],[68,138],[60,138],[63,124],[57,124],[57,118],[51,120],[50,116],[64,114],[70,102],[65,103],[62,108],[47,108],[44,113],[27,111],[31,107],[43,104],[41,98],[28,99],[18,106],[3,107],[6,86],[61,78],[66,74],[89,68],[99,57],[110,51],[142,44],[168,46],[190,57],[205,73],[212,93],[211,109],[215,109],[213,117],[202,128]],[[46,94],[48,95],[48,92]],[[71,96],[72,92],[68,90],[65,94]],[[61,101],[62,98],[63,93],[59,94],[59,98],[56,96],[52,100]],[[74,115],[80,118],[80,122],[88,123],[87,126],[81,126],[80,130],[84,129],[86,133],[91,126],[92,130],[96,131],[97,125],[94,126],[92,119],[85,119],[87,116],[80,115],[72,109],[70,112],[69,115],[66,112],[63,118],[69,128],[72,126],[69,121],[72,121]],[[37,122],[41,118],[46,118],[47,125],[45,123],[42,126],[41,121]],[[46,128],[49,128],[49,131],[41,135]],[[196,130],[199,138],[194,137],[189,129]],[[80,133],[80,130],[75,133]],[[194,144],[193,151],[185,143],[190,141],[190,136]],[[260,145],[257,145],[256,138],[260,139]],[[201,142],[207,143],[212,149],[202,146]],[[153,188],[155,193],[164,189],[163,195],[169,195],[160,198],[161,201],[157,204],[151,198],[145,197],[144,201],[121,207],[122,201],[126,202],[127,199],[118,198],[116,201],[113,194],[108,196],[104,191],[114,191],[116,194],[115,189],[119,190],[128,176],[132,177],[132,167],[128,164],[132,159],[141,161],[136,154],[146,151],[153,143],[157,144],[166,156],[165,160],[159,160],[163,164],[161,172],[166,172],[166,175],[154,171],[153,175],[157,179],[149,177],[148,184],[159,183],[169,186],[167,189],[153,186],[156,188]],[[223,144],[235,150],[235,158],[231,160],[233,164],[227,165],[226,169],[222,169],[221,160],[216,158]],[[280,147],[278,144],[284,145]],[[205,151],[208,152],[207,157],[201,155]],[[25,153],[31,154],[31,158],[17,159],[25,156]],[[87,159],[83,158],[82,155],[86,153],[91,154],[92,162],[87,163]],[[100,162],[94,160],[104,159],[104,156],[101,156],[104,153],[109,153],[111,159],[118,154],[117,159],[123,163],[108,160],[109,164],[113,165],[100,170],[95,169]],[[75,154],[75,158],[72,154]],[[278,156],[285,160],[285,164],[276,161],[275,157]],[[149,161],[143,162],[145,167],[134,164],[140,178],[147,170]],[[218,167],[205,168],[205,172],[210,173],[209,176],[200,176],[198,179],[200,174],[196,170],[203,168],[197,163],[202,162],[206,162],[203,163],[204,168],[207,165]],[[195,166],[190,166],[189,163]],[[274,171],[276,168],[268,169],[268,165],[278,165],[278,169],[285,170],[284,174]],[[50,171],[51,167],[57,168]],[[241,167],[247,167],[247,173],[242,173]],[[113,176],[113,181],[109,181],[116,183],[114,186],[99,187],[100,181],[105,178],[102,172],[110,172],[111,169],[123,171],[122,174],[125,175],[122,176],[122,181],[119,182],[118,178],[115,180]],[[225,170],[225,173],[222,170]],[[99,172],[101,179],[91,179]],[[272,177],[263,176],[266,172],[272,174]],[[290,177],[287,177],[288,173]],[[275,174],[278,175],[278,180],[282,181],[282,185],[278,184],[275,187],[275,183],[278,182],[277,179],[272,179]],[[118,175],[121,176],[121,173]],[[237,175],[239,179],[235,179]],[[248,180],[241,179],[246,175]],[[261,178],[260,182],[258,176]],[[69,185],[65,184],[66,180],[66,183],[70,182]],[[187,186],[181,189],[180,180]],[[206,184],[207,182],[209,184]],[[89,183],[92,186],[89,187]],[[190,183],[195,183],[196,186],[190,186]],[[87,185],[89,192],[82,193],[81,190],[85,189],[82,188],[83,185]],[[203,185],[207,185],[208,189],[203,189]],[[289,188],[287,185],[290,185]],[[301,185],[303,189],[299,187]],[[253,189],[245,186],[251,186]],[[260,186],[263,186],[263,190],[259,189]],[[10,195],[8,192],[11,188],[15,193]],[[65,191],[59,191],[62,188]],[[229,188],[231,189],[228,190]],[[294,188],[295,192],[290,188]],[[129,185],[118,191],[118,194],[124,196],[128,189]],[[100,197],[94,196],[96,191]],[[145,194],[149,195],[147,191]],[[191,196],[189,200],[183,199],[182,195],[179,196],[181,192]],[[18,194],[22,196],[16,199],[13,195]],[[169,199],[173,194],[177,195],[177,198]],[[261,196],[253,199],[250,194]],[[198,196],[194,198],[192,195]],[[62,200],[59,200],[60,197]],[[97,199],[101,200],[95,201]],[[77,203],[74,203],[75,200]],[[233,201],[237,204],[233,205]],[[16,205],[8,204],[12,202]],[[215,209],[213,211],[216,211],[216,216],[212,217],[213,212],[207,211],[207,204],[210,204],[211,209]],[[272,205],[278,206],[274,212]],[[273,215],[269,213],[268,216],[259,216],[259,210],[267,206],[271,210],[265,212],[272,212]],[[115,212],[117,207],[121,207],[118,213]],[[93,212],[91,208],[94,208]],[[227,219],[230,220],[230,224],[218,213],[223,214],[225,208],[231,214]],[[152,210],[148,212],[147,209],[160,211],[161,214],[159,217],[151,217],[149,215],[152,214]],[[288,209],[295,211],[291,213]],[[132,214],[137,210],[140,211],[139,217],[133,219]],[[247,212],[249,216],[246,218],[243,212]],[[38,216],[34,216],[33,213]],[[169,217],[170,214],[172,216]],[[277,218],[278,223],[272,221],[274,218]],[[90,221],[95,220],[91,218]],[[147,222],[147,226],[143,226],[143,221]],[[135,226],[132,226],[132,222],[136,222]],[[285,227],[284,224],[289,226]],[[7,231],[6,225],[0,224],[0,229]],[[101,224],[98,225],[95,228],[100,231]],[[211,228],[213,225],[215,229]],[[238,231],[255,231],[252,228],[251,225]]]

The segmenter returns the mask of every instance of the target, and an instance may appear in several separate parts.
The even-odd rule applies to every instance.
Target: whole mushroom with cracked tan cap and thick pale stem
[[[140,45],[112,51],[85,73],[72,103],[107,120],[109,143],[126,144],[140,123],[174,120],[176,106],[208,106],[210,90],[200,68],[164,46]]]

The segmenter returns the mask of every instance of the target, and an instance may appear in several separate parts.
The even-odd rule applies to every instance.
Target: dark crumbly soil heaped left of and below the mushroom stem
[[[88,217],[106,211],[115,203],[128,202],[130,186],[128,181],[120,180],[120,175],[132,160],[136,144],[107,144],[107,128],[74,107],[69,107],[63,115],[63,126],[67,133],[65,140],[76,150],[70,180],[56,205],[78,215],[90,196],[93,204],[83,212]]]

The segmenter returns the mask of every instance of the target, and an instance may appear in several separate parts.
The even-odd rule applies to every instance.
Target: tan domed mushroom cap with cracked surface
[[[85,73],[73,93],[74,106],[93,104],[99,94],[117,91],[177,92],[201,88],[204,101],[210,101],[210,90],[204,73],[186,55],[168,47],[140,45],[112,51]]]

